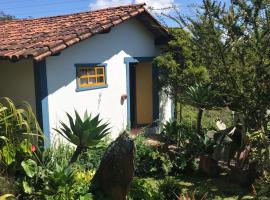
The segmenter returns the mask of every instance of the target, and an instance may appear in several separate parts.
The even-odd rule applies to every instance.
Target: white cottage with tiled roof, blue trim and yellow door
[[[168,33],[143,4],[0,22],[0,97],[28,101],[47,138],[66,112],[100,113],[112,137],[171,118],[152,60]]]

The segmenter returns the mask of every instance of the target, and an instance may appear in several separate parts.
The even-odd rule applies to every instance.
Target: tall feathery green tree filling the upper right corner
[[[244,116],[249,129],[266,129],[270,106],[269,1],[204,0],[195,17],[172,17],[191,35],[194,59],[207,68],[221,102]]]

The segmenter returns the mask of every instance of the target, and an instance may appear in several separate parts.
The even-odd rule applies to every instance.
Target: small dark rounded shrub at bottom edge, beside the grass
[[[159,185],[159,199],[161,200],[178,200],[178,195],[180,193],[179,183],[170,177],[162,180]]]

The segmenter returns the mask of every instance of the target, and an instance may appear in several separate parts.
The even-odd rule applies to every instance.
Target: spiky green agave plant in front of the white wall
[[[110,128],[108,127],[108,123],[102,123],[102,120],[99,119],[99,115],[92,118],[90,114],[88,115],[87,111],[83,119],[77,111],[75,111],[75,119],[68,113],[67,117],[69,119],[69,126],[64,122],[60,122],[62,128],[54,130],[69,142],[76,145],[76,150],[69,162],[71,164],[78,159],[82,152],[90,147],[96,146],[107,136]]]

